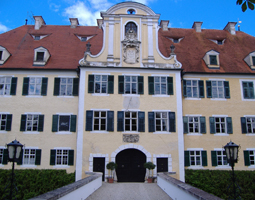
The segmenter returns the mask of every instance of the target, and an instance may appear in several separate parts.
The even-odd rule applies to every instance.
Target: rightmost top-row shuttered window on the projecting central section
[[[173,77],[149,76],[149,94],[173,95]]]

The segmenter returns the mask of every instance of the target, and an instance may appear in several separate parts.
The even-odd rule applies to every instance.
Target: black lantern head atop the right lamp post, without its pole
[[[234,163],[237,163],[239,147],[240,146],[238,146],[232,141],[230,141],[224,146],[226,156],[227,156],[227,162],[231,166],[234,165]]]

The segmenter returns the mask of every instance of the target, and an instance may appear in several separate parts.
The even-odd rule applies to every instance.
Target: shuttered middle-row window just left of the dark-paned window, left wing
[[[42,132],[44,115],[25,114],[21,115],[20,131]]]

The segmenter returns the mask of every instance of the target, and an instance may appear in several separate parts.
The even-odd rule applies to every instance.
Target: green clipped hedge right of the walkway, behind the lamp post
[[[228,199],[228,194],[233,192],[229,187],[231,176],[232,171],[226,170],[185,170],[186,183],[222,199]],[[255,171],[235,171],[235,177],[241,189],[241,199],[254,200]]]

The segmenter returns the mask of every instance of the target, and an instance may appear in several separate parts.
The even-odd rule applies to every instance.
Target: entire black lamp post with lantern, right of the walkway
[[[240,146],[235,144],[234,142],[230,141],[224,146],[226,156],[227,156],[227,162],[230,164],[232,168],[232,183],[233,183],[233,198],[230,199],[240,199],[240,196],[238,194],[238,188],[236,187],[236,180],[235,180],[235,172],[234,172],[234,166],[235,163],[238,161],[238,151],[239,151]]]

